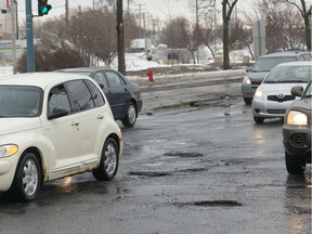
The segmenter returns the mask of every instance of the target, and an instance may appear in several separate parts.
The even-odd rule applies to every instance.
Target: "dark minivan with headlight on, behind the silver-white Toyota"
[[[256,89],[260,86],[269,72],[280,63],[294,61],[311,61],[308,51],[271,52],[260,56],[251,68],[248,68],[242,83],[242,96],[247,105],[251,105]]]

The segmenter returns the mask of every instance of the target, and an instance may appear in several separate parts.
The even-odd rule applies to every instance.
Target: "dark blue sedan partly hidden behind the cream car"
[[[57,72],[77,73],[93,78],[103,89],[114,118],[121,120],[125,127],[134,126],[143,104],[138,83],[130,81],[119,72],[109,68],[75,67]]]

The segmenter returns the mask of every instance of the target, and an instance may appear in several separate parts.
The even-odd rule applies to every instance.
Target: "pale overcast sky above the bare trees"
[[[2,0],[5,2],[5,0]],[[25,18],[25,1],[17,0],[18,4],[18,15],[21,18]],[[99,0],[68,0],[69,10],[77,9],[79,5],[81,8],[93,8],[93,2],[96,5]],[[195,2],[195,0],[193,0]],[[221,0],[217,1],[217,8],[221,9]],[[37,14],[37,2],[38,0],[31,0],[32,4],[32,14]],[[123,10],[128,9],[128,1],[123,0]],[[250,5],[252,5],[253,0],[240,0],[237,3],[238,11],[246,11]],[[65,13],[65,0],[48,0],[48,3],[52,5],[52,10],[49,12],[49,15],[43,16],[48,18],[49,16],[58,16]],[[192,11],[190,5],[190,0],[130,0],[130,11],[135,12],[136,14],[147,13],[153,17],[157,17],[160,21],[166,21],[176,16],[186,16],[190,20],[195,21],[195,12]]]

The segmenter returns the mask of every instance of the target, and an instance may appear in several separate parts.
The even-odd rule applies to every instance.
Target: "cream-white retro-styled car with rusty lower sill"
[[[0,78],[0,192],[32,200],[43,182],[92,171],[112,180],[122,138],[96,82],[77,74]]]

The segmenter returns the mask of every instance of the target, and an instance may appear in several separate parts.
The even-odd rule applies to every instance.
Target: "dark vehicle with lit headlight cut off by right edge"
[[[286,169],[290,174],[302,174],[311,164],[311,81],[306,90],[291,88],[291,94],[301,96],[287,108],[283,126]]]

